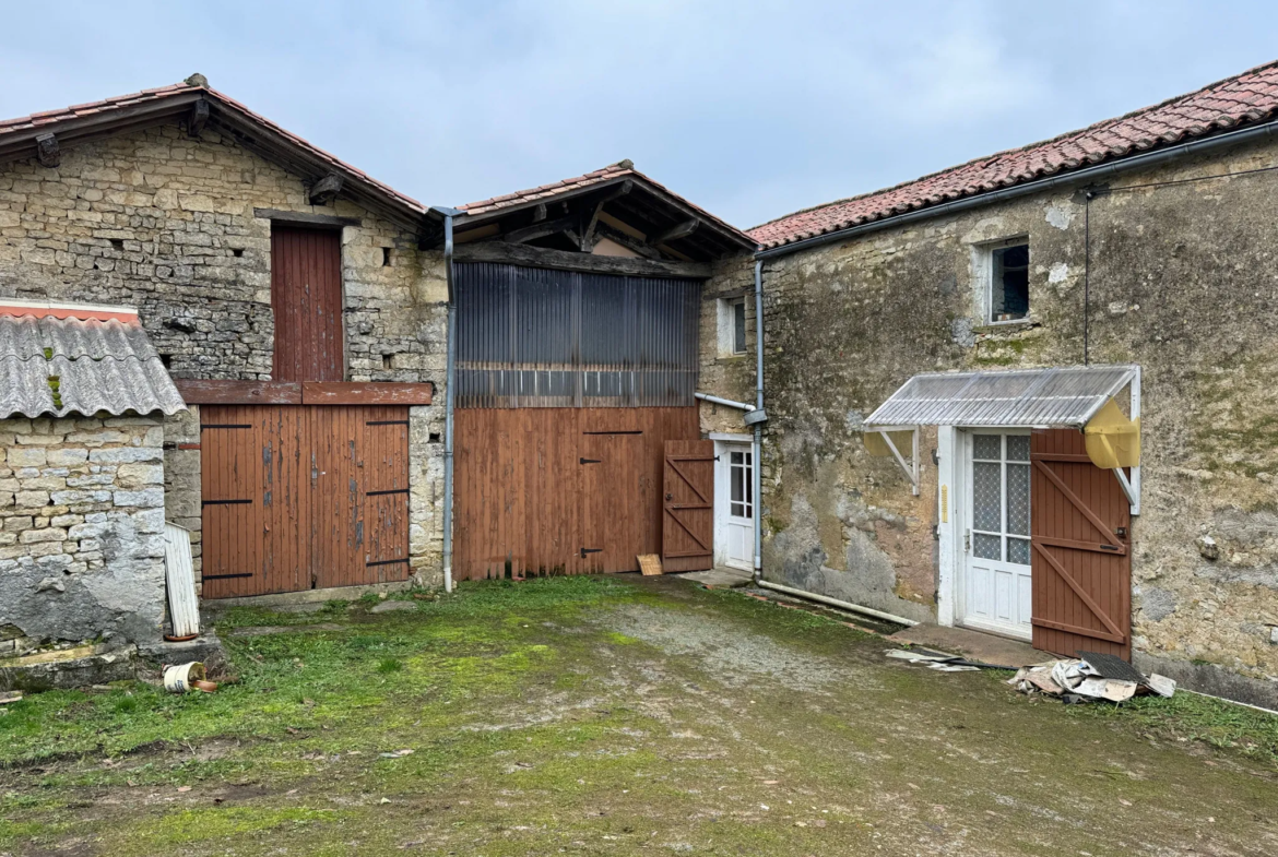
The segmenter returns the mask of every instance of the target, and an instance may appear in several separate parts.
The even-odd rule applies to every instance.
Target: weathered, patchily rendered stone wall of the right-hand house
[[[769,261],[766,575],[933,614],[935,434],[915,498],[861,420],[915,373],[1081,364],[1090,208],[1090,358],[1144,369],[1135,648],[1278,686],[1278,174],[1160,184],[1275,161],[1181,160],[1090,204],[1065,188]],[[983,326],[974,248],[1022,235],[1031,317]]]

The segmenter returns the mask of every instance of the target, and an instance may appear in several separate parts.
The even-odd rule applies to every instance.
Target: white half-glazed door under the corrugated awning
[[[962,623],[1029,640],[1030,436],[966,437]]]

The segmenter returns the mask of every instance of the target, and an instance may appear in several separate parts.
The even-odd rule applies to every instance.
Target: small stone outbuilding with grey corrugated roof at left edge
[[[164,418],[185,407],[137,310],[0,299],[0,672],[160,641]]]

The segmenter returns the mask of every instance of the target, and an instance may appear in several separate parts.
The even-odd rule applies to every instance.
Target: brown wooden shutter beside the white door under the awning
[[[1033,462],[1034,646],[1131,659],[1131,507],[1082,434],[1036,430]]]

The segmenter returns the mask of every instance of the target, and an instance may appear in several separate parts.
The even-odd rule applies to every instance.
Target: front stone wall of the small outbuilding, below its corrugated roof
[[[0,628],[160,639],[162,444],[158,416],[0,420]]]

